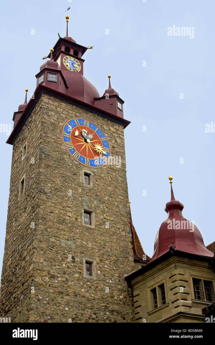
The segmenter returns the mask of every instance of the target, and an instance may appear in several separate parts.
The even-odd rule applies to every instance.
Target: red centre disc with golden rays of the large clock
[[[90,142],[86,142],[84,137],[81,134],[82,130],[85,130],[88,134],[92,134],[93,138],[90,140]],[[75,135],[77,134],[78,135]],[[95,145],[98,144],[103,148],[102,141],[99,137],[99,135],[92,129],[86,126],[76,126],[71,130],[70,133],[70,140],[72,145],[74,146],[75,150],[81,154],[83,157],[88,159],[95,159],[96,157],[100,157],[101,154],[96,152]]]

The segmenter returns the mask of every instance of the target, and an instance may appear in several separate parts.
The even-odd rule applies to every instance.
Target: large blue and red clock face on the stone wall
[[[85,166],[99,168],[106,165],[110,158],[106,136],[86,119],[73,118],[65,122],[62,139],[69,154]]]

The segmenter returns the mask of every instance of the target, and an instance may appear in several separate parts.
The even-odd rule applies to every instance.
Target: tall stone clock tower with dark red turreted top
[[[135,247],[129,121],[110,76],[101,97],[84,77],[91,47],[68,37],[68,19],[7,140],[13,154],[1,315],[11,322],[134,322],[124,279],[134,271]]]

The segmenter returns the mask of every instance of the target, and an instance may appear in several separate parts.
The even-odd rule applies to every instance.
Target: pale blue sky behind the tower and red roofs
[[[173,176],[183,216],[205,245],[215,240],[214,1],[46,0],[1,3],[0,267],[10,186],[13,112],[36,88],[35,75],[60,36],[82,46],[84,76],[100,96],[111,86],[125,101],[126,169],[134,226],[145,253],[170,200]],[[188,27],[183,32],[182,27]],[[170,36],[172,30],[172,36]],[[182,33],[183,36],[182,36]],[[207,124],[212,132],[207,131]],[[145,126],[145,127],[144,127]]]

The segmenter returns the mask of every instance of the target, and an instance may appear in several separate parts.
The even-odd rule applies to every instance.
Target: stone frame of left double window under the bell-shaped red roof
[[[159,286],[161,284],[164,284],[165,299],[166,299],[166,303],[165,304],[162,304],[162,298],[161,298],[161,293],[160,293],[160,288],[159,288]],[[156,288],[156,294],[157,294],[157,308],[154,307],[154,300],[153,300],[153,296],[152,296],[152,290],[154,288]],[[167,284],[166,284],[166,279],[165,278],[162,279],[162,280],[159,280],[159,282],[156,282],[153,285],[150,285],[150,284],[147,285],[147,300],[148,300],[149,312],[156,311],[160,307],[166,306],[168,304]]]

